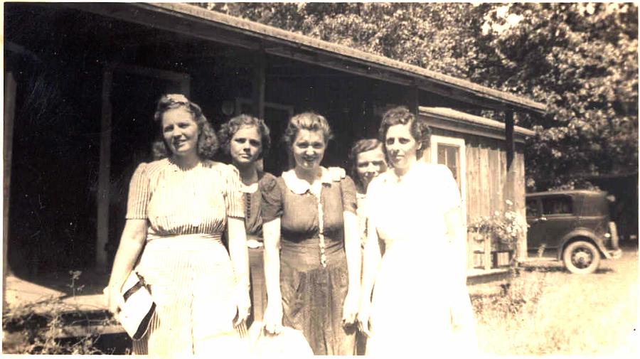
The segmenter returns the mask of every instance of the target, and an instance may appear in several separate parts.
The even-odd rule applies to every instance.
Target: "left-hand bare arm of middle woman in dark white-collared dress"
[[[265,328],[269,333],[279,333],[282,327],[282,293],[280,292],[280,218],[262,224],[265,244],[265,284],[267,309]]]

